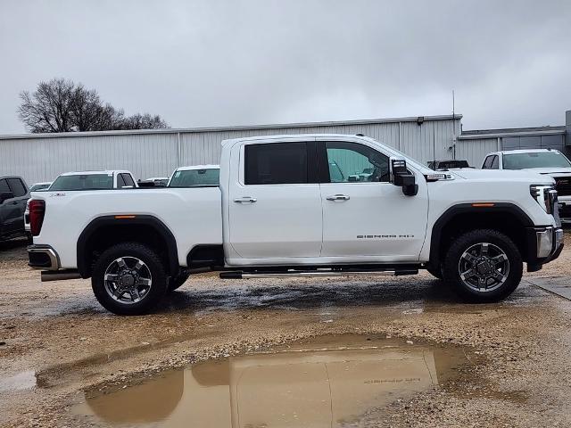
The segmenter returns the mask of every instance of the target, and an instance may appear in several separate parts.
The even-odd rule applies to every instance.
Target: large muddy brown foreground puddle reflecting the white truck
[[[424,391],[465,362],[461,350],[329,336],[172,371],[87,398],[76,411],[117,425],[337,426]]]

